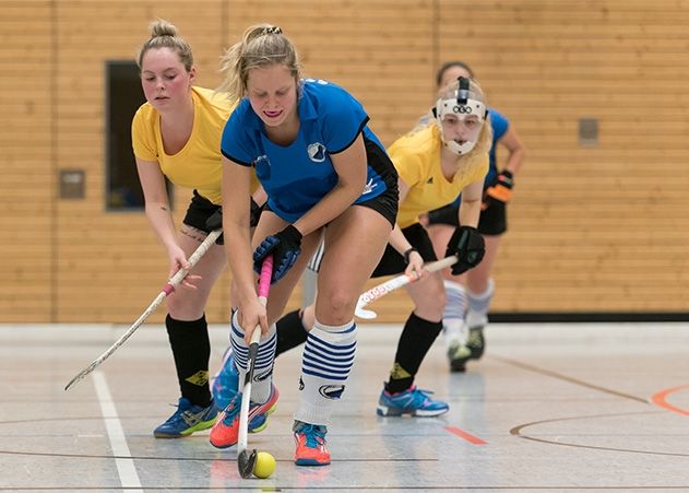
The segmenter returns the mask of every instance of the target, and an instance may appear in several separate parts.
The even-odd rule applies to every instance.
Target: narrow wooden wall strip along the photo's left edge
[[[0,2],[0,321],[55,309],[51,3]]]

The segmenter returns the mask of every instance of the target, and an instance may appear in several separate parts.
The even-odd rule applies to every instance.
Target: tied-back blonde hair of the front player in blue
[[[299,55],[292,40],[275,25],[252,25],[221,59],[221,72],[225,77],[216,91],[227,93],[230,99],[241,99],[247,93],[249,70],[276,63],[287,67],[295,80],[300,79]]]

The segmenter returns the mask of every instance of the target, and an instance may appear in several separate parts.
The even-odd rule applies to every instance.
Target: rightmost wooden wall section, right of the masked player
[[[498,312],[685,312],[689,4],[441,1],[464,59],[527,159],[496,266]],[[678,72],[679,71],[679,72]],[[650,109],[646,104],[652,106]],[[580,118],[599,143],[581,146]],[[502,153],[504,154],[504,152]]]

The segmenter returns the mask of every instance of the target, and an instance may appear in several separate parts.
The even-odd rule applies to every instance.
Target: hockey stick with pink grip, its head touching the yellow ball
[[[265,306],[268,303],[268,292],[271,287],[271,278],[273,275],[273,256],[269,255],[263,260],[261,267],[261,277],[259,278],[259,302]],[[259,354],[259,341],[261,340],[261,326],[257,325],[251,334],[249,342],[249,361],[247,364],[247,374],[243,379],[243,388],[241,389],[241,408],[239,408],[239,436],[237,438],[237,467],[242,478],[250,478],[253,474],[256,458],[258,451],[247,450],[248,433],[249,433],[249,404],[251,402],[251,380],[253,380],[253,369],[256,368],[256,359]]]

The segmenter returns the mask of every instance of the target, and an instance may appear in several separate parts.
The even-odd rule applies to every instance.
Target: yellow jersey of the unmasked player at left
[[[223,164],[221,136],[235,106],[225,94],[204,87],[192,87],[193,128],[185,146],[176,154],[165,153],[161,137],[161,118],[150,103],[141,105],[132,121],[134,155],[154,161],[175,185],[194,188],[211,202],[222,203]],[[257,187],[252,176],[251,189]]]

